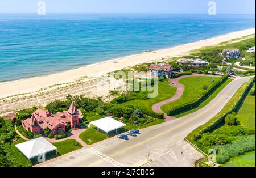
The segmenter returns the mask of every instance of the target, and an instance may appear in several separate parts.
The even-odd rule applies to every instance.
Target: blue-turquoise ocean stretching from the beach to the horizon
[[[0,82],[255,28],[255,15],[0,14]]]

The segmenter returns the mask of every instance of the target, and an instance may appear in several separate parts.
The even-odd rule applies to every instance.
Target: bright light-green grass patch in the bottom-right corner
[[[255,167],[255,151],[234,157],[223,164],[224,167]]]

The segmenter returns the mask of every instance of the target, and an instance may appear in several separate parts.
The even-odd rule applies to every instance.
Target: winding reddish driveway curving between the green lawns
[[[213,76],[213,75],[204,75],[204,74],[192,74],[192,75],[183,75],[179,78],[174,78],[174,79],[170,79],[169,82],[172,82],[172,86],[176,87],[177,88],[177,91],[175,93],[174,96],[172,96],[172,98],[168,99],[168,100],[164,100],[164,101],[161,101],[159,103],[156,103],[152,106],[152,110],[156,113],[164,113],[161,109],[162,105],[164,104],[168,104],[168,103],[171,103],[173,101],[176,101],[178,99],[180,99],[180,97],[183,95],[183,91],[184,91],[184,86],[183,84],[180,84],[179,83],[179,80],[182,79],[182,78],[187,78],[187,77],[195,77],[195,76],[211,76],[211,77],[217,77],[217,76]],[[172,117],[172,116],[167,116],[166,113],[164,113],[164,118],[166,120],[166,122],[168,121],[171,121],[171,120],[175,120],[176,118],[175,117]]]

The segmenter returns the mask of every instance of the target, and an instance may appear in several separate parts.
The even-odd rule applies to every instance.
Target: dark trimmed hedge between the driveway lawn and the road
[[[190,103],[184,104],[182,107],[178,106],[178,107],[171,108],[167,112],[167,115],[172,116],[177,113],[180,113],[180,112],[183,112],[183,111],[186,111],[188,109],[195,107],[196,105],[198,105],[202,101],[204,101],[212,91],[216,90],[218,87],[221,86],[221,84],[226,82],[227,79],[228,79],[228,75],[224,75],[223,77],[221,77],[221,79],[218,81],[218,83],[216,83],[212,88],[210,88],[208,92],[205,92],[205,94],[202,95],[198,100],[194,100],[194,101],[191,101]]]

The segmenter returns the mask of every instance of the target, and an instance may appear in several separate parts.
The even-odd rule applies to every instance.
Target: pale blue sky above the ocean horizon
[[[40,0],[1,0],[0,13],[36,13]],[[42,1],[42,0],[41,0]],[[210,0],[43,0],[46,13],[196,13]],[[255,0],[214,0],[218,14],[255,14]]]

